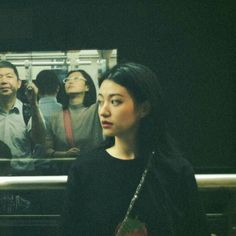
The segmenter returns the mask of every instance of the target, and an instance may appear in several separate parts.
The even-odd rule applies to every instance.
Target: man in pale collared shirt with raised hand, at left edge
[[[37,103],[37,88],[27,84],[27,98],[31,109],[31,121],[25,119],[25,106],[17,99],[21,86],[16,67],[8,61],[0,61],[0,140],[11,149],[13,173],[34,170],[32,143],[44,144],[45,125]],[[16,159],[19,160],[16,160]]]

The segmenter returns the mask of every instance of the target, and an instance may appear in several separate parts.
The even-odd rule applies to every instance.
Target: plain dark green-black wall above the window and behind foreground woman
[[[183,155],[236,169],[234,1],[1,1],[0,51],[118,49],[157,72]]]

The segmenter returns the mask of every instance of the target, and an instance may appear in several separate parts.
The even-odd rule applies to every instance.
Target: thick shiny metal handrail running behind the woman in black
[[[196,174],[199,189],[236,189],[236,174]],[[64,190],[67,176],[0,177],[0,190]]]

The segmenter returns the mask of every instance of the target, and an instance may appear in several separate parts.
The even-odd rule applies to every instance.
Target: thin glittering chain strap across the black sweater
[[[148,164],[147,164],[145,170],[143,171],[143,174],[141,176],[140,182],[139,182],[139,184],[138,184],[138,186],[137,186],[137,188],[135,190],[134,196],[132,197],[132,199],[130,201],[129,207],[128,207],[127,212],[125,214],[125,217],[124,217],[123,221],[121,222],[120,227],[119,227],[119,229],[118,229],[118,231],[117,231],[115,236],[122,236],[121,235],[122,229],[124,228],[128,218],[129,218],[130,212],[132,211],[132,209],[134,207],[134,204],[135,204],[136,200],[139,197],[139,193],[141,191],[141,188],[143,187],[144,180],[145,180],[145,178],[147,176],[147,173],[148,173],[148,171],[150,169],[151,162],[152,162],[152,159],[153,159],[154,155],[155,155],[155,152],[153,151],[151,153],[151,156],[150,156],[149,160],[148,160]]]

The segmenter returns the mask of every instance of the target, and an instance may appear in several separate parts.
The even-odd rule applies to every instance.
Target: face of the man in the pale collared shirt
[[[0,96],[16,95],[21,86],[19,80],[11,68],[0,68]]]

